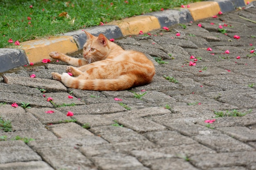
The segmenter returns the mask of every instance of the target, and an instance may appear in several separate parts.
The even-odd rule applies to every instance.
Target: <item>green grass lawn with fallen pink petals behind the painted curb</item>
[[[14,46],[16,40],[23,42],[47,38],[96,26],[100,22],[120,20],[197,1],[200,0],[128,0],[128,3],[124,0],[1,0],[0,48],[10,46],[10,38]],[[59,17],[62,12],[67,12],[70,18]]]

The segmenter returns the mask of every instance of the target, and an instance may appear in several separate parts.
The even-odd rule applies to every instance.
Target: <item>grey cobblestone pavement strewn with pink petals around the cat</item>
[[[153,82],[130,89],[141,99],[66,88],[50,74],[61,62],[2,74],[0,170],[256,170],[256,24],[240,16],[256,8],[115,40],[155,63]]]

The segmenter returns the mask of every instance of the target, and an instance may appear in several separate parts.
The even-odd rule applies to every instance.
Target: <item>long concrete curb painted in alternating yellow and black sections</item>
[[[127,35],[138,35],[139,31],[150,32],[164,26],[172,26],[178,23],[210,18],[217,15],[219,11],[227,13],[238,7],[245,7],[249,2],[255,0],[213,0],[188,4],[185,8],[178,10],[164,10],[146,13],[124,20],[113,21],[103,26],[93,26],[84,29],[92,35],[103,33],[108,39],[121,38]],[[207,12],[206,12],[207,11]],[[20,49],[0,49],[0,73],[18,66],[29,64],[29,62],[41,62],[49,59],[49,52],[73,53],[83,49],[87,37],[83,30],[72,31],[58,37],[49,39],[29,40],[20,43]]]

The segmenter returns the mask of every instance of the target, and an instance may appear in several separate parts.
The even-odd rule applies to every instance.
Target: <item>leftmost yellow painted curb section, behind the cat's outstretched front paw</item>
[[[57,51],[60,53],[73,53],[78,51],[72,36],[60,36],[49,39],[37,39],[21,42],[22,50],[25,51],[29,62],[41,62],[48,59],[49,53]]]

